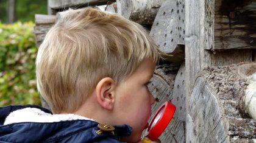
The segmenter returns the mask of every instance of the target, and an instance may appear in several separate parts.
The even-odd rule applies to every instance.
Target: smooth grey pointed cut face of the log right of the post
[[[218,100],[198,77],[188,102],[187,142],[229,142]],[[189,129],[189,130],[188,130]]]

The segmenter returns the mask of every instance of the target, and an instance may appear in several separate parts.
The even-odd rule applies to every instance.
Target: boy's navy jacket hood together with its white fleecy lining
[[[0,125],[0,142],[119,142],[132,128],[115,126],[114,133],[101,134],[97,130],[98,122],[86,117],[24,108],[10,113]]]

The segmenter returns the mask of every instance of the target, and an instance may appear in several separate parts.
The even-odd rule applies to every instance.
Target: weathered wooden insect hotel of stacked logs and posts
[[[141,24],[168,54],[149,85],[152,113],[176,106],[162,142],[256,142],[256,0],[48,0],[37,46],[63,11],[88,6]]]

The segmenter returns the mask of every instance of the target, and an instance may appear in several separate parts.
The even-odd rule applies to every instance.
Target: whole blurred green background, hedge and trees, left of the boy
[[[47,14],[46,0],[0,0],[0,106],[40,105],[35,79],[36,13]]]

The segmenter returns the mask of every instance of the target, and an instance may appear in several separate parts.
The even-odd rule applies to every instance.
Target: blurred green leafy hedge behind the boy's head
[[[33,23],[0,23],[0,106],[40,104]]]

